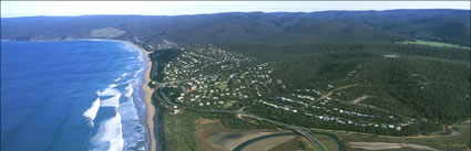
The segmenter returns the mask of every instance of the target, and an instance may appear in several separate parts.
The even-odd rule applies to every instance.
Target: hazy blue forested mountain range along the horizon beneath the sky
[[[391,43],[431,40],[470,46],[469,10],[228,12],[196,15],[2,18],[1,39],[139,39],[196,43]]]

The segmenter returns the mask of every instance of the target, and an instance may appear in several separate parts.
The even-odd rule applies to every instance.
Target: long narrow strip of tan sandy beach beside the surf
[[[156,141],[155,141],[155,133],[154,133],[154,116],[155,116],[155,106],[152,104],[152,93],[153,90],[151,89],[151,87],[149,87],[149,83],[151,82],[151,68],[152,68],[152,62],[151,60],[147,57],[147,55],[150,54],[150,52],[145,51],[144,48],[141,48],[140,46],[129,42],[129,41],[121,41],[124,43],[127,43],[130,45],[133,45],[135,47],[137,47],[141,52],[144,53],[145,55],[145,60],[147,62],[147,68],[145,69],[144,73],[144,83],[142,84],[142,90],[144,91],[144,104],[145,107],[147,109],[147,119],[146,119],[146,123],[147,123],[147,132],[150,133],[150,147],[147,147],[147,151],[155,151],[156,149]]]

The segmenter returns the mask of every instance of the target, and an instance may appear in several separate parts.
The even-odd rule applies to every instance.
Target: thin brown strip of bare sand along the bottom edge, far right
[[[349,142],[351,148],[361,148],[365,150],[391,150],[400,148],[411,148],[417,150],[440,151],[430,147],[411,143],[388,143],[388,142]]]

